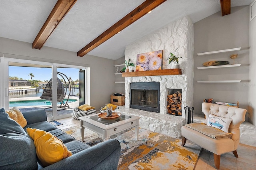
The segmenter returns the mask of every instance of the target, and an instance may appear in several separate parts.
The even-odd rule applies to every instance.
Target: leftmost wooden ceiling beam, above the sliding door
[[[68,14],[76,1],[77,0],[58,0],[32,43],[32,48],[41,49],[43,47],[44,43],[57,28],[61,20]]]

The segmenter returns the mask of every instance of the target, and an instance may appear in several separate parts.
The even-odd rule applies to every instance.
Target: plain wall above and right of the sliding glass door
[[[90,66],[90,105],[96,110],[110,103],[110,95],[115,92],[114,60],[92,55],[77,57],[76,52],[46,46],[40,50],[32,49],[32,43],[7,38],[0,38],[0,49],[1,53],[19,55],[19,59]]]

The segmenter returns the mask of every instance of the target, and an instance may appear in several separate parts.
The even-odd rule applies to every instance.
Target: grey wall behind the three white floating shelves
[[[226,16],[217,12],[194,23],[194,107],[196,113],[202,114],[202,102],[209,98],[228,103],[239,101],[241,108],[248,109],[248,72],[251,67],[248,66],[250,63],[248,30],[248,6],[234,7],[231,9],[231,14]],[[197,53],[236,47],[241,47],[241,50],[197,56]],[[230,59],[230,55],[236,53],[238,57],[235,63],[242,64],[241,67],[197,69],[197,67],[203,67],[202,63],[206,61],[222,60],[232,64],[233,59]],[[197,83],[197,80],[242,80],[242,82]],[[248,119],[247,115],[246,117]]]

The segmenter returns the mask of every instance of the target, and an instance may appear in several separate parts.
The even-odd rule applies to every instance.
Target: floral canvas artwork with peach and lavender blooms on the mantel
[[[163,55],[163,50],[138,54],[136,71],[162,69],[162,55]]]

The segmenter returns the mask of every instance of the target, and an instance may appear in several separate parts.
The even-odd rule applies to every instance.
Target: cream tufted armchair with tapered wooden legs
[[[209,150],[214,155],[214,164],[217,169],[220,168],[220,155],[233,152],[234,156],[238,158],[236,149],[238,148],[240,139],[240,124],[244,122],[244,117],[246,114],[246,109],[241,109],[237,107],[229,107],[224,105],[217,105],[212,103],[202,103],[202,112],[206,115],[206,121],[210,114],[219,117],[231,118],[232,122],[229,126],[228,131],[232,133],[231,138],[220,138],[214,139],[206,136],[205,134],[193,130],[192,128],[183,126],[181,128],[182,133],[182,146],[185,145],[186,140],[190,140],[202,148]],[[205,125],[207,126],[207,125]],[[213,127],[212,127],[213,128]]]

